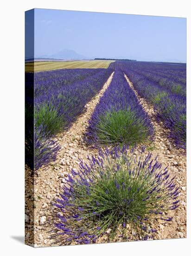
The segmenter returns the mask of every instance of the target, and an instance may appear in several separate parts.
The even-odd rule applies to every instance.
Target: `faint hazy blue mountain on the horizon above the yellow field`
[[[81,59],[87,59],[85,56],[76,53],[73,50],[70,49],[63,49],[62,51],[52,54],[49,56],[49,58],[55,58],[55,59],[64,59],[64,60],[70,60],[70,59],[75,59],[75,60],[81,60]]]

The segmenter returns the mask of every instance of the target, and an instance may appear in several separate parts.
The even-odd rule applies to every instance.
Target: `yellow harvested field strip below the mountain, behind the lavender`
[[[25,63],[25,71],[46,71],[61,68],[108,68],[114,61],[94,60],[94,61],[37,61]]]

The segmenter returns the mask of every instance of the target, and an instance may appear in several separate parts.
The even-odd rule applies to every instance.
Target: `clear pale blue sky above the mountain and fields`
[[[87,58],[186,61],[186,19],[35,9],[35,57],[66,49]]]

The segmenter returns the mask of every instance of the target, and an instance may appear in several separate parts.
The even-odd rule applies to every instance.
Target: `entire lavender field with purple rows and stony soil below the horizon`
[[[113,61],[25,81],[27,243],[31,232],[36,247],[185,237],[186,64]]]

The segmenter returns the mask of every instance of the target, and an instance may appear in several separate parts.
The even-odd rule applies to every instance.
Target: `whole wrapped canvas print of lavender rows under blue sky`
[[[27,245],[186,238],[179,17],[25,12]]]

